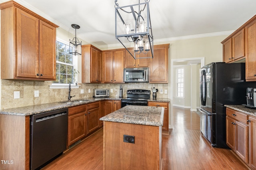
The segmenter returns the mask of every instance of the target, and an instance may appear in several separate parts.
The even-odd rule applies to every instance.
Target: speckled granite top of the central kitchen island
[[[164,107],[127,105],[100,118],[100,121],[163,126]]]

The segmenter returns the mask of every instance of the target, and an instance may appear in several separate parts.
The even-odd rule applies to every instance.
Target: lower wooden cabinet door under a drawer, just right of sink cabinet
[[[88,110],[88,133],[92,132],[93,130],[99,127],[99,112],[99,107]]]

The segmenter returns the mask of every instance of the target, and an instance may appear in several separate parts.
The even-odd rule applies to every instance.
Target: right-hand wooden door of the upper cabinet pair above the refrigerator
[[[245,56],[244,41],[244,29],[232,37],[232,60]]]

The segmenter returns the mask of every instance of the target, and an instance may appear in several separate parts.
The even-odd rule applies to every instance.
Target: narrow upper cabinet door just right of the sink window
[[[91,82],[101,82],[101,52],[91,48]]]

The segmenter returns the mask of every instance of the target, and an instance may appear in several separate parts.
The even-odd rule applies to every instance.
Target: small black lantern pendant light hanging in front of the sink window
[[[69,53],[72,55],[81,55],[82,42],[80,42],[78,38],[76,38],[76,29],[79,29],[80,26],[76,24],[72,24],[71,26],[75,29],[75,37],[72,40],[69,40]]]

